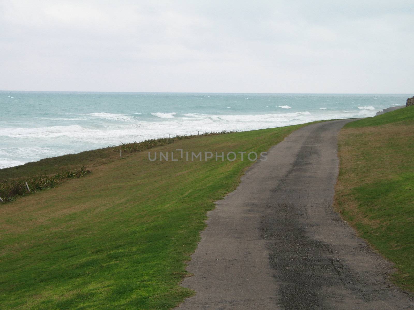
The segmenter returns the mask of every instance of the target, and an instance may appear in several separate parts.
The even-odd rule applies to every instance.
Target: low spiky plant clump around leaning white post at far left
[[[36,191],[41,191],[42,189],[53,188],[62,180],[80,178],[88,173],[90,173],[90,171],[87,170],[85,166],[82,166],[79,169],[62,171],[52,176],[31,176],[24,179],[3,182],[0,183],[0,197],[4,201],[12,201],[17,196],[24,196]],[[26,186],[26,182],[27,186],[30,188],[30,191]]]

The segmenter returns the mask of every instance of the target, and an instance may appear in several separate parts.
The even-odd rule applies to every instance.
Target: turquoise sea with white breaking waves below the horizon
[[[412,95],[0,92],[0,168],[169,134],[371,117]]]

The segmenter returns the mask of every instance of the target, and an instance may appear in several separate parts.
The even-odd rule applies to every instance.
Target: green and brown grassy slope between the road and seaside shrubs
[[[260,152],[300,126],[205,136],[151,151]],[[149,162],[145,151],[0,205],[1,308],[173,307],[192,294],[178,283],[206,211],[249,165]]]

